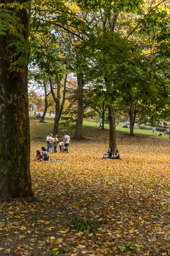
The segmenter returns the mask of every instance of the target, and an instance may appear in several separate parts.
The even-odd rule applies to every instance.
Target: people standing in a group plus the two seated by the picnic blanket
[[[35,156],[35,160],[39,160],[39,161],[48,161],[49,160],[49,154],[51,151],[52,153],[57,153],[57,145],[58,145],[58,135],[55,134],[55,137],[52,137],[52,133],[49,133],[47,138],[47,149],[45,147],[41,147],[42,149],[42,154],[40,153],[39,150],[36,151],[36,156]],[[68,132],[66,132],[64,134],[63,137],[63,142],[59,143],[59,147],[60,147],[60,152],[61,153],[68,153],[68,146],[70,143],[70,136],[68,135]]]

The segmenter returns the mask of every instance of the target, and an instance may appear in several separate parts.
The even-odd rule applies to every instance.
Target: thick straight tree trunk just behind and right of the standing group
[[[81,141],[81,140],[85,140],[85,138],[82,136],[82,124],[83,124],[83,113],[84,113],[84,110],[83,110],[84,80],[83,80],[82,73],[77,74],[77,83],[78,83],[78,114],[77,114],[74,139],[77,141]]]

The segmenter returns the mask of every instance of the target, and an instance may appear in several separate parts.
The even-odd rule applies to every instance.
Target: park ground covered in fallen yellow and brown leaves
[[[0,255],[170,254],[169,141],[118,133],[121,160],[102,159],[108,130],[83,127],[88,141],[50,154],[64,162],[34,161],[52,125],[31,121],[37,200],[0,204]]]

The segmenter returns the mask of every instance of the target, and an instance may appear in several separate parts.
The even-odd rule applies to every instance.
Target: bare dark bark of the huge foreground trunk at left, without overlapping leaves
[[[14,10],[14,15],[25,25],[22,34],[28,40],[30,13],[22,9]],[[0,201],[7,202],[15,197],[34,196],[30,175],[27,64],[21,66],[23,72],[8,70],[21,57],[21,54],[14,56],[15,47],[7,47],[8,40],[11,35],[0,35]]]

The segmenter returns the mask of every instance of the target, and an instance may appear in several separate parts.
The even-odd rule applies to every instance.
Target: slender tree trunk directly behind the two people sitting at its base
[[[105,77],[106,89],[112,88],[112,83]],[[109,147],[113,149],[116,147],[116,111],[115,107],[108,105],[108,122],[109,122]]]

